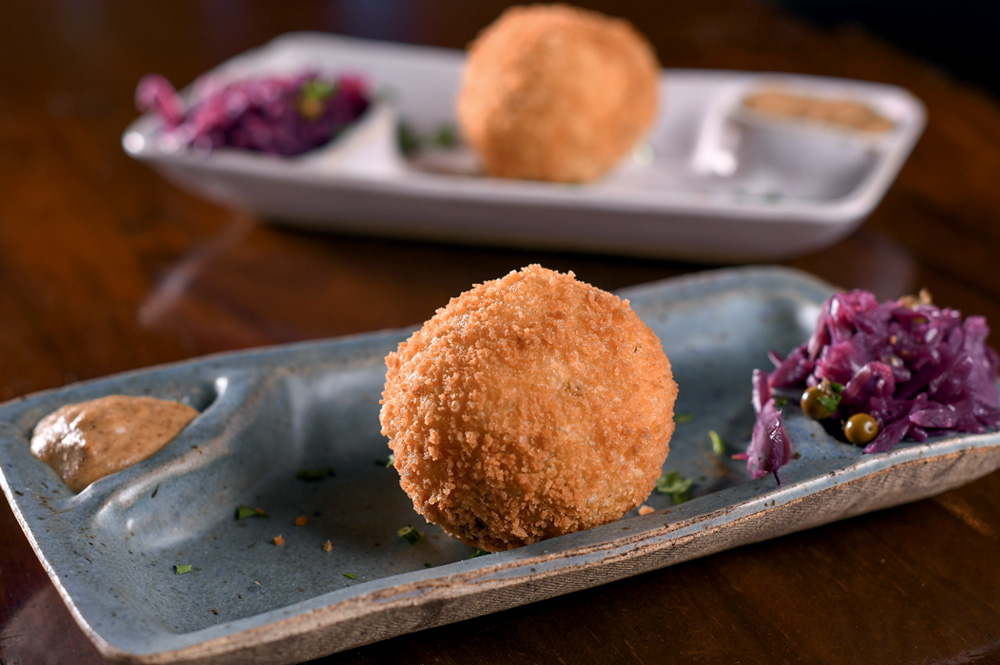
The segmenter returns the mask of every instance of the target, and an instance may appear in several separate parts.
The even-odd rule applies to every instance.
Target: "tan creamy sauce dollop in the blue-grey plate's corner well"
[[[35,426],[31,453],[79,492],[146,459],[197,415],[186,404],[155,397],[108,395],[67,404]]]

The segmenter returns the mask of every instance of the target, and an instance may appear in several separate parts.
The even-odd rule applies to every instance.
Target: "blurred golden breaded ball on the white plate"
[[[459,126],[489,175],[590,182],[652,124],[658,76],[649,42],[623,19],[512,7],[469,47]]]

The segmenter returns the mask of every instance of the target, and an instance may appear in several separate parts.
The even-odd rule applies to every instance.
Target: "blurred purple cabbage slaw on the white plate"
[[[361,78],[327,79],[311,71],[231,83],[202,77],[188,108],[169,81],[148,74],[135,102],[160,117],[167,149],[231,147],[286,157],[329,143],[371,104]]]

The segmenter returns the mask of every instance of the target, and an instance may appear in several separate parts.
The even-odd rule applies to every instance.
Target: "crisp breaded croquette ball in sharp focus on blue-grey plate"
[[[537,265],[453,298],[386,358],[382,433],[428,521],[505,550],[649,496],[677,386],[628,301]]]

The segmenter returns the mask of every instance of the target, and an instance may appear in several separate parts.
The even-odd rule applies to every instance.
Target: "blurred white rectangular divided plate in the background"
[[[420,132],[455,125],[464,53],[292,33],[221,65],[223,77],[352,72],[385,102],[340,142],[295,159],[165,150],[150,115],[125,150],[179,186],[271,221],[331,231],[701,261],[758,261],[844,237],[882,199],[923,131],[922,104],[860,81],[666,69],[646,144],[588,185],[475,175],[463,147],[407,159],[397,118]],[[862,101],[895,126],[877,136],[746,122],[761,88]],[[765,123],[766,125],[766,123]],[[725,174],[725,175],[720,175]]]

